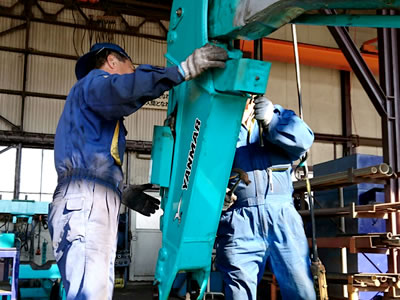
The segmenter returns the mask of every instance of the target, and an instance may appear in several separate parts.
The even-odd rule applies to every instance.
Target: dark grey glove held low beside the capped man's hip
[[[147,195],[144,191],[151,189],[152,184],[129,185],[122,192],[122,203],[130,209],[149,217],[160,208],[160,200]]]

